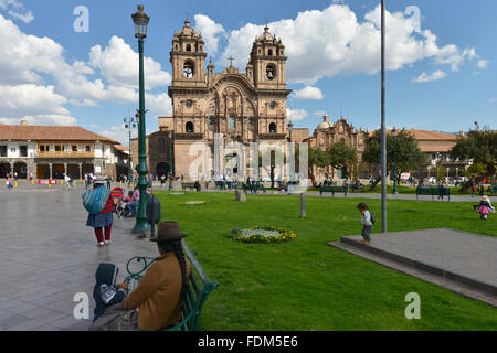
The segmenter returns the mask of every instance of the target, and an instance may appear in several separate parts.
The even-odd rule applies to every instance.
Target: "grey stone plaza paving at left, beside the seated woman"
[[[73,318],[73,297],[89,296],[93,318],[97,265],[117,264],[123,280],[129,258],[157,256],[154,243],[130,234],[134,220],[115,218],[113,245],[97,248],[81,192],[0,192],[0,330],[87,329],[87,321]]]

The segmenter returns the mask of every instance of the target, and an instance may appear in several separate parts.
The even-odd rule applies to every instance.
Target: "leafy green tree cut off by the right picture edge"
[[[474,130],[458,137],[451,158],[472,159],[473,163],[485,165],[485,175],[482,176],[494,176],[497,168],[497,130],[490,130],[488,126],[480,128],[475,121]]]

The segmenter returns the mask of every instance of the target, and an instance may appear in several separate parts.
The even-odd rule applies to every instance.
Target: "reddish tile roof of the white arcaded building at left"
[[[78,126],[22,126],[2,125],[0,141],[105,141],[120,145],[105,136],[88,131]]]

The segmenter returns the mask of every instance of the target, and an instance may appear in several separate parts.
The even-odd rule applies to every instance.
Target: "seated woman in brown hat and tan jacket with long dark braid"
[[[160,257],[129,297],[108,308],[89,330],[160,330],[177,324],[191,275],[191,264],[181,248],[184,237],[178,223],[161,223],[156,240]]]

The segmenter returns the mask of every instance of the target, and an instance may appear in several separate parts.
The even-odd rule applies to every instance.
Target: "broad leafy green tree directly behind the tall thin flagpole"
[[[366,138],[366,149],[362,161],[371,164],[381,163],[381,130],[377,130]],[[398,175],[411,170],[419,170],[427,163],[427,156],[417,147],[414,136],[402,129],[395,137]],[[387,133],[387,172],[393,173],[393,136]],[[381,181],[381,175],[371,185],[374,189]]]

